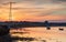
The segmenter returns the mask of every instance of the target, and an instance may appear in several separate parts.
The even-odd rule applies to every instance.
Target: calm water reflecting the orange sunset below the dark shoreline
[[[20,28],[20,29],[11,29],[10,33],[11,36],[35,38],[35,40],[33,41],[15,40],[14,42],[66,42],[66,27],[51,27],[51,30],[46,30],[46,28],[40,28],[40,27]]]

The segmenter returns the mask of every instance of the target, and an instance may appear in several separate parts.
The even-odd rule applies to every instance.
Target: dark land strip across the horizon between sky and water
[[[10,28],[29,28],[29,27],[66,27],[66,22],[30,22],[30,21],[6,21],[0,22],[0,25]]]

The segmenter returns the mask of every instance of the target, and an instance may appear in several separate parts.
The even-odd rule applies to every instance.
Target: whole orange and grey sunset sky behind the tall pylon
[[[0,21],[66,21],[66,0],[0,0]]]

